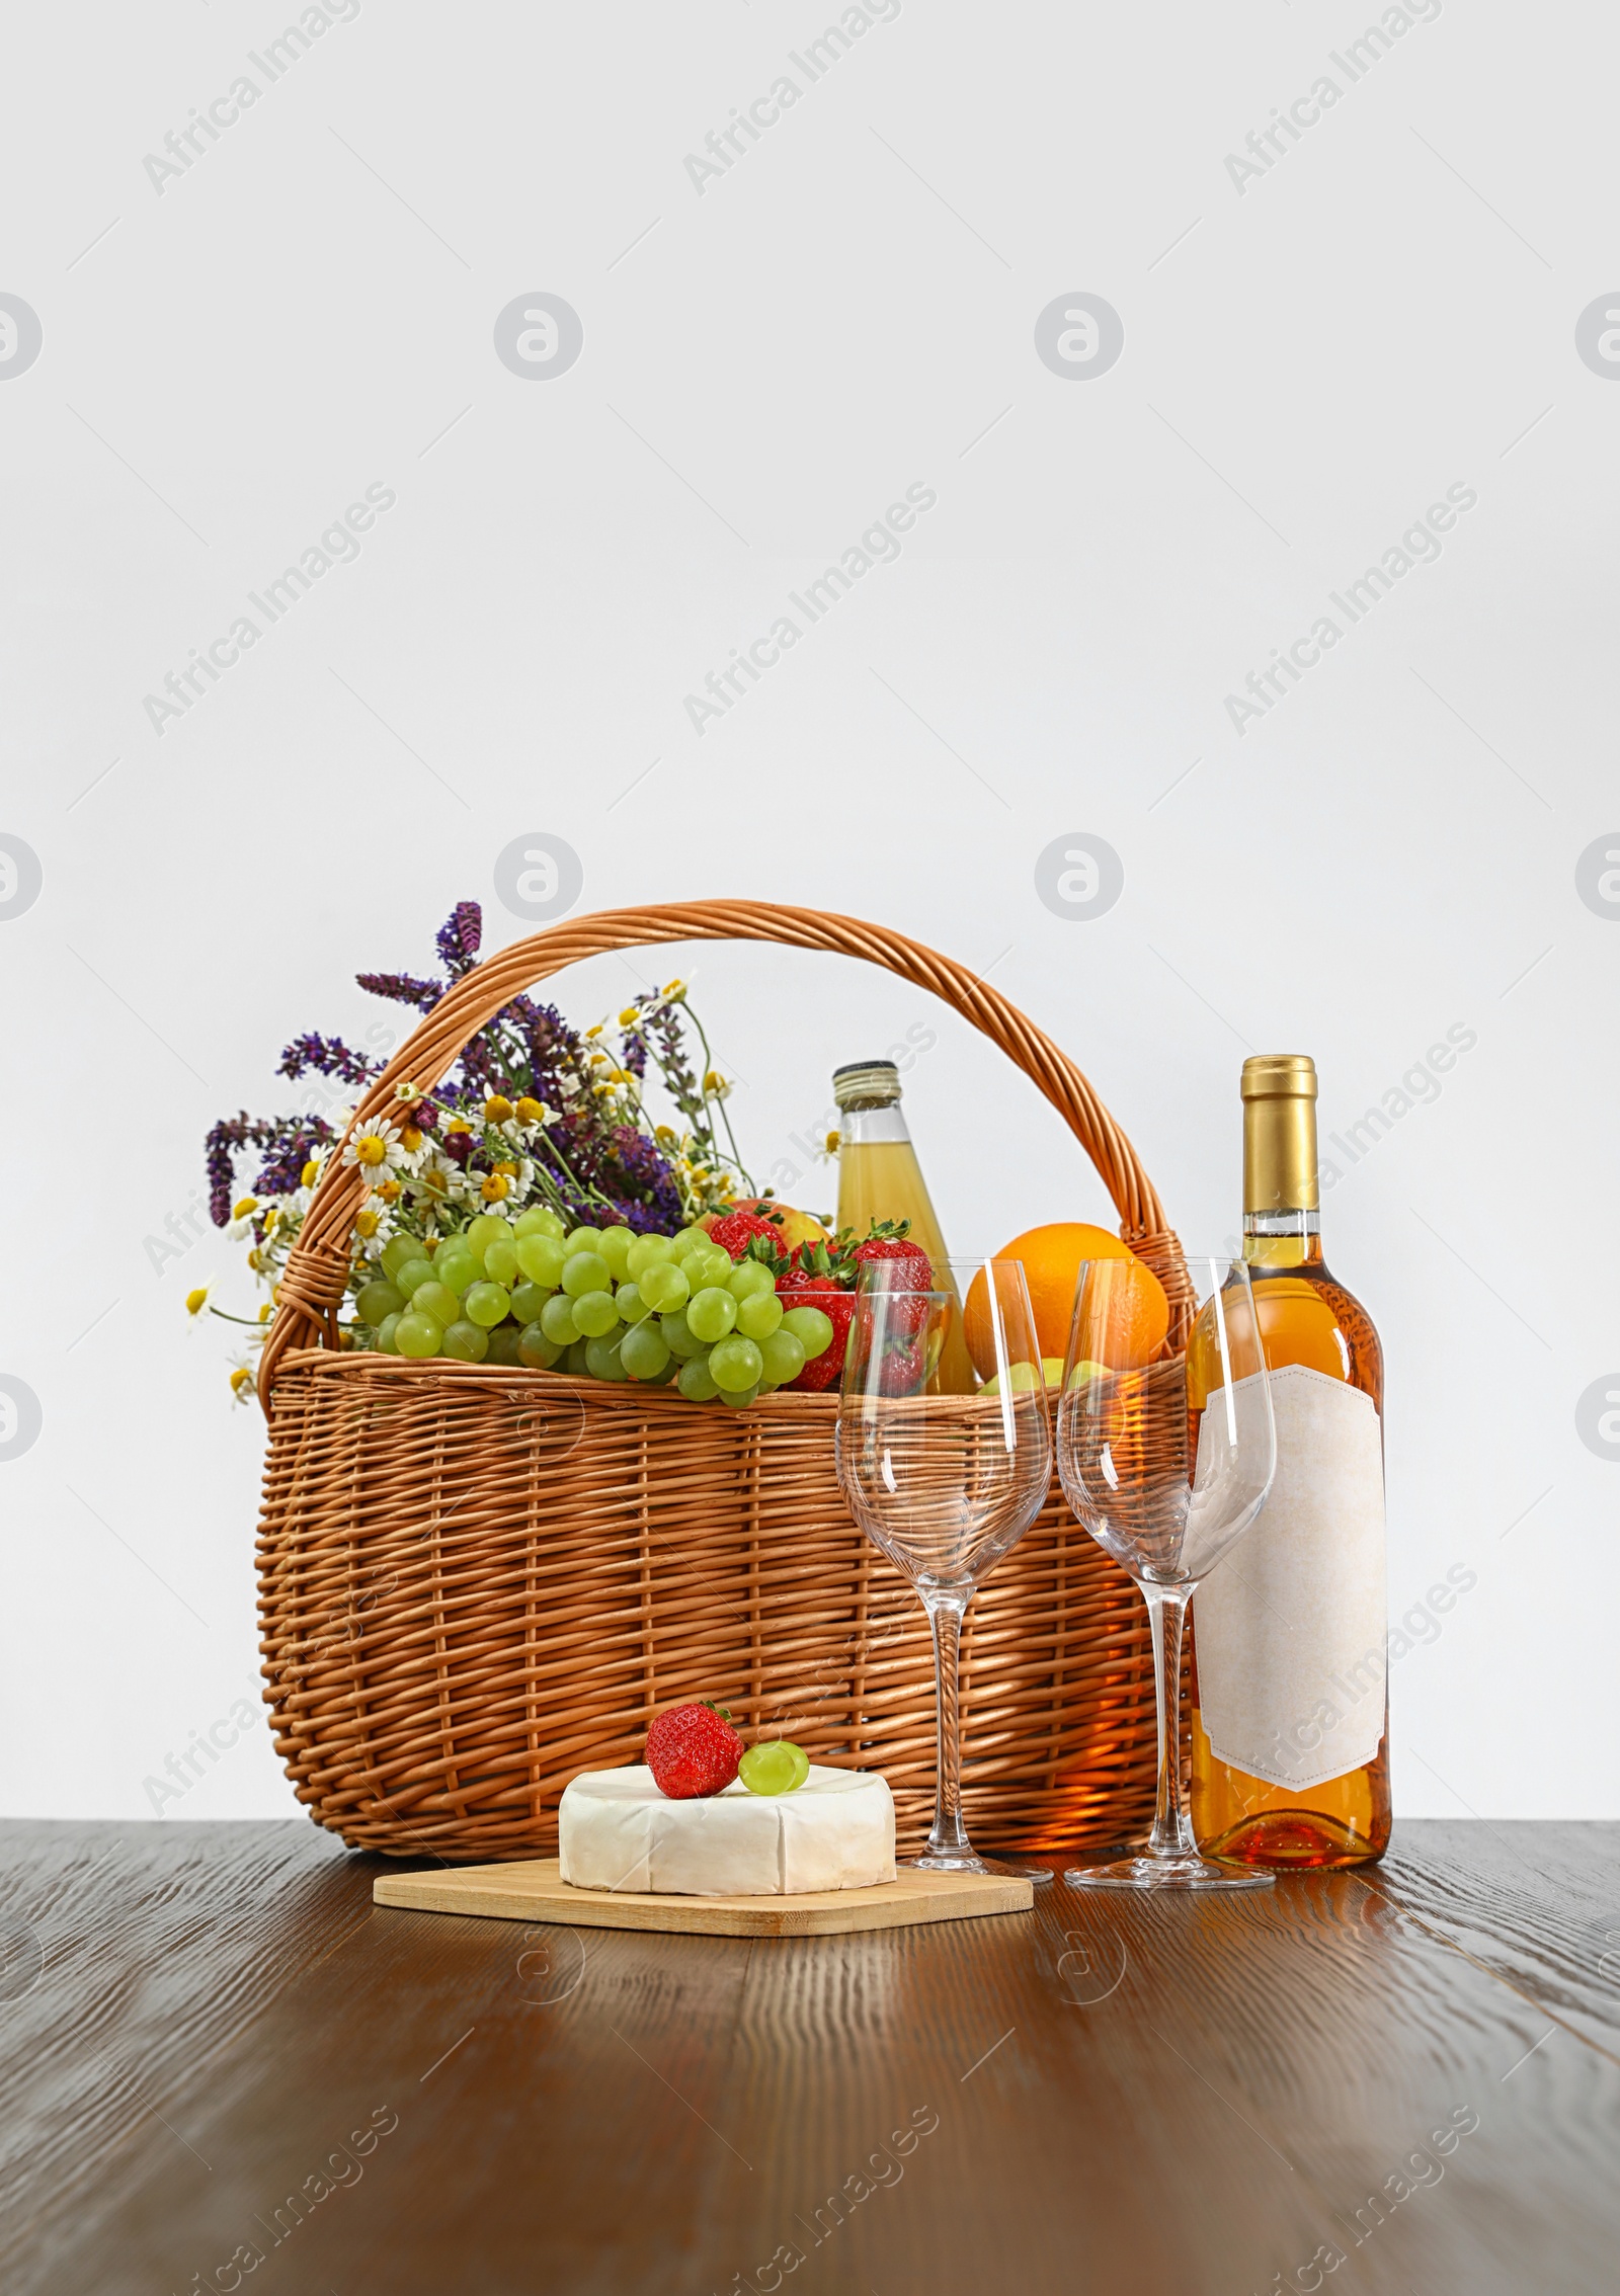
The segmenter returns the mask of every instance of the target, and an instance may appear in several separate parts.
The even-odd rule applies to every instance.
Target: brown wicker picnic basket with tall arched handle
[[[614,909],[469,971],[361,1102],[432,1091],[501,1006],[616,948],[781,941],[931,990],[1066,1118],[1121,1235],[1186,1313],[1181,1249],[1135,1150],[1050,1038],[949,957],[767,902]],[[933,1669],[910,1587],[850,1520],[836,1396],[745,1412],[547,1371],[345,1352],[361,1182],[331,1159],[280,1281],[260,1623],[276,1747],[354,1848],[533,1857],[579,1770],[641,1759],[653,1713],[722,1699],[816,1761],[882,1770],[901,1839],[933,1793]],[[1135,1587],[1052,1486],[963,1642],[963,1807],[986,1848],[1069,1851],[1151,1818],[1154,1660]]]

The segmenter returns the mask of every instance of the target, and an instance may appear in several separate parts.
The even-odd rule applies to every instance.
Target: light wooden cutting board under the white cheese
[[[372,1903],[414,1913],[483,1913],[496,1922],[565,1922],[579,1929],[673,1929],[705,1938],[836,1938],[855,1929],[965,1922],[983,1913],[1029,1913],[1034,1885],[1000,1874],[908,1874],[873,1890],[811,1890],[804,1896],[637,1896],[574,1890],[556,1857],[533,1864],[443,1867],[381,1874]]]

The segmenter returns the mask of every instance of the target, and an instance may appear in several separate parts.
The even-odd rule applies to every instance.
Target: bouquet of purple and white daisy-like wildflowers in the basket
[[[462,900],[439,930],[437,976],[358,974],[356,980],[372,996],[432,1013],[471,971],[480,937],[483,912]],[[386,1040],[388,1031],[370,1031],[379,1033]],[[193,1318],[225,1316],[248,1327],[250,1345],[264,1339],[280,1270],[333,1155],[365,1180],[342,1327],[352,1345],[375,1343],[361,1293],[370,1283],[379,1295],[379,1263],[388,1251],[395,1265],[404,1240],[432,1254],[476,1219],[499,1215],[515,1224],[526,1212],[551,1215],[545,1226],[556,1233],[666,1235],[754,1194],[726,1114],[731,1084],[712,1065],[682,980],[634,996],[614,1022],[584,1033],[554,1006],[515,996],[469,1040],[443,1084],[432,1091],[400,1084],[395,1109],[345,1141],[358,1093],[384,1065],[384,1052],[299,1035],[278,1075],[306,1086],[308,1107],[292,1116],[244,1109],[214,1125],[209,1210],[216,1226],[248,1244],[248,1267],[269,1300],[257,1318],[227,1316],[211,1286],[200,1286],[186,1297]],[[655,1123],[648,1114],[650,1081],[662,1084],[676,1120]],[[255,1171],[239,1196],[244,1159]],[[253,1364],[248,1352],[232,1368],[239,1401],[255,1394]]]

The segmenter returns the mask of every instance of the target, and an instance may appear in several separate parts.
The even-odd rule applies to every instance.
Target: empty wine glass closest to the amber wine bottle
[[[1142,1589],[1154,1628],[1158,1809],[1142,1857],[1071,1867],[1085,1890],[1255,1890],[1199,1857],[1181,1786],[1181,1628],[1197,1582],[1266,1504],[1278,1467],[1266,1355],[1243,1261],[1190,1258],[1186,1355],[1142,1362],[1137,1261],[1085,1261],[1057,1405],[1057,1474],[1085,1529]],[[1163,1313],[1163,1309],[1160,1309]]]

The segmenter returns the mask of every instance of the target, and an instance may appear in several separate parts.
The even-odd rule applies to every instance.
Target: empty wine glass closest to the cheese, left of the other
[[[862,1272],[839,1391],[839,1483],[859,1527],[917,1589],[933,1628],[933,1828],[921,1857],[903,1862],[928,1874],[1043,1883],[1052,1878],[1046,1867],[979,1857],[963,1825],[963,1616],[979,1582],[1041,1513],[1052,1481],[1023,1263],[983,1261],[974,1274],[983,1281],[972,1288],[901,1290],[892,1288],[903,1281],[896,1263]]]

